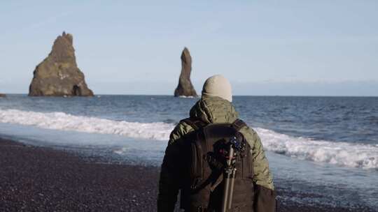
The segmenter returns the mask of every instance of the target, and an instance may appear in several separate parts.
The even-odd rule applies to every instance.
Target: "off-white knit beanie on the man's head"
[[[202,96],[218,96],[225,100],[232,102],[231,84],[222,75],[214,75],[206,79],[204,88],[202,89]]]

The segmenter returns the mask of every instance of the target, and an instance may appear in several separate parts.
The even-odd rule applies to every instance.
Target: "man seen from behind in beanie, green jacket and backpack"
[[[169,137],[160,172],[159,212],[174,211],[179,190],[186,212],[221,211],[225,160],[230,159],[222,154],[227,153],[224,146],[232,135],[246,145],[235,154],[235,186],[228,211],[275,211],[272,174],[260,138],[239,120],[228,79],[214,75],[204,83],[190,118],[181,120]]]

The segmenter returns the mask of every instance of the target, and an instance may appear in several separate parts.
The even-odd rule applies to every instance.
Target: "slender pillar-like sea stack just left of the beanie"
[[[197,97],[197,93],[190,82],[190,73],[192,72],[192,57],[187,47],[184,48],[181,54],[181,74],[179,78],[179,85],[174,90],[174,96],[193,96]]]

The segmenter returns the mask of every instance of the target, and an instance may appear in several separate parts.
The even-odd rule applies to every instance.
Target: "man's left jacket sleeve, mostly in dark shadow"
[[[180,144],[178,140],[191,130],[193,128],[185,123],[179,123],[169,136],[168,146],[160,169],[158,212],[174,211],[180,189]]]

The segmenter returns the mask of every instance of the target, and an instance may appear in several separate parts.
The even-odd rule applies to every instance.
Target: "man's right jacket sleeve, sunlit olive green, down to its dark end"
[[[255,212],[276,211],[276,191],[274,190],[272,172],[269,170],[269,162],[265,157],[265,152],[260,137],[251,128],[241,130],[251,145],[253,157],[253,182],[255,184]]]

